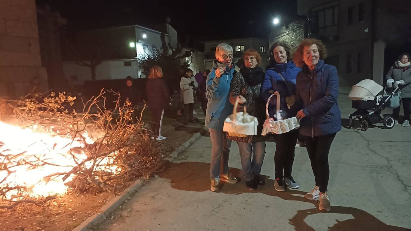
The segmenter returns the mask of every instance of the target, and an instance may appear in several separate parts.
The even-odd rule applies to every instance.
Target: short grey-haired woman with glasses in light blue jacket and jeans
[[[205,96],[208,99],[205,112],[205,126],[211,139],[210,178],[211,191],[219,190],[219,181],[235,184],[238,180],[229,173],[229,155],[231,140],[223,132],[224,120],[232,113],[233,105],[229,101],[230,83],[235,75],[233,48],[227,43],[220,43],[215,48],[215,60],[208,75]]]

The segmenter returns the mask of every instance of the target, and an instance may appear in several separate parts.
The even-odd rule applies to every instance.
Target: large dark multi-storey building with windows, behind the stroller
[[[341,86],[383,84],[397,56],[411,52],[410,12],[406,0],[298,0],[307,36],[325,43],[326,63],[337,67]]]

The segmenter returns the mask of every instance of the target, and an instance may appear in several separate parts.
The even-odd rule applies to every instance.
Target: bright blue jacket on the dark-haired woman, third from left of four
[[[284,77],[284,80],[287,81],[287,84],[290,88],[291,95],[296,94],[296,77],[298,72],[301,71],[301,68],[296,66],[293,61],[289,61],[283,64],[270,64],[266,68],[266,77],[263,82],[263,89],[261,91],[261,96],[267,102],[268,98],[272,93],[268,91],[279,91],[280,94],[280,110],[284,110],[289,114],[287,103],[285,102],[285,97],[290,96],[290,93],[287,89],[286,84],[282,80],[281,75]],[[270,99],[270,104],[268,105],[268,114],[270,118],[274,118],[274,114],[277,110],[277,96],[272,96]],[[289,117],[289,116],[287,116]]]

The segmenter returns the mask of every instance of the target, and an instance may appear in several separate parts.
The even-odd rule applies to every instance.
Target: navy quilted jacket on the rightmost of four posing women
[[[300,134],[314,137],[341,130],[337,98],[338,74],[335,66],[324,64],[324,60],[320,59],[311,72],[304,65],[297,75],[296,103],[290,109],[293,113],[303,109],[306,115],[300,121]]]

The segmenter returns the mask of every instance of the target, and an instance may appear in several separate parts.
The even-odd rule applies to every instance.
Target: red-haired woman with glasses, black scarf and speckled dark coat
[[[261,85],[264,79],[264,71],[261,68],[261,56],[253,49],[248,49],[242,55],[244,66],[237,73],[230,85],[230,102],[234,105],[239,99],[240,108],[247,103],[247,113],[257,117],[259,126],[257,134],[248,137],[235,137],[227,135],[229,140],[234,140],[240,149],[241,166],[244,172],[245,186],[249,190],[255,190],[257,186],[265,185],[264,178],[259,177],[264,155],[266,154],[265,136],[261,135],[265,115],[265,102],[261,98]],[[254,153],[253,158],[251,158]]]

